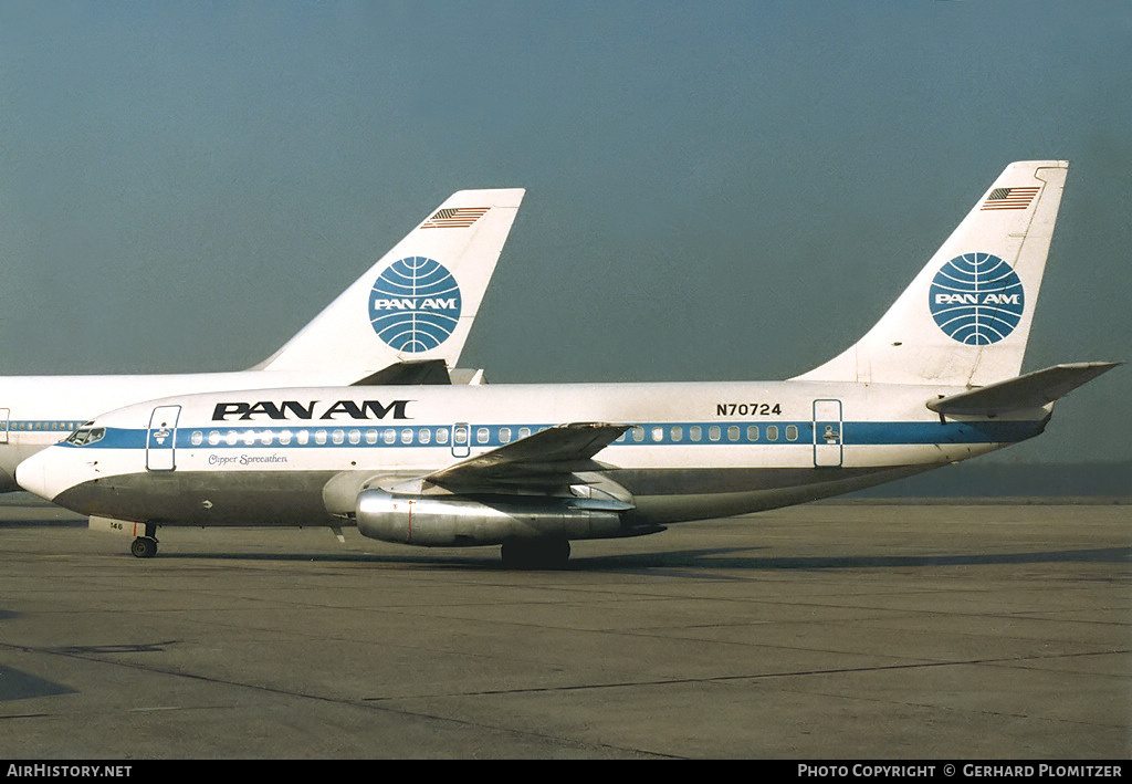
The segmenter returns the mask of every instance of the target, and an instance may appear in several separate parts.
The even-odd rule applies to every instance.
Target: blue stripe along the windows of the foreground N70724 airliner
[[[842,442],[854,445],[985,444],[1023,441],[1041,432],[1041,421],[846,421]],[[471,448],[512,443],[549,425],[471,425]],[[428,441],[421,437],[428,433]],[[443,433],[443,440],[437,433]],[[106,428],[105,436],[72,449],[145,449],[145,428]],[[285,440],[283,434],[288,434]],[[215,443],[213,443],[215,441]],[[632,446],[806,446],[814,443],[811,421],[648,423],[631,428],[612,448]],[[457,444],[462,446],[463,444]],[[327,424],[300,427],[214,427],[177,431],[177,449],[406,449],[452,448],[449,425]]]

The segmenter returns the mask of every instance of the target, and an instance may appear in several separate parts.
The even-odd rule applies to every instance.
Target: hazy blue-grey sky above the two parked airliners
[[[1132,359],[1132,3],[0,0],[0,373],[251,365],[525,187],[464,365],[780,378],[1006,163],[1071,161],[1027,369]],[[1132,460],[1132,368],[1000,460]]]

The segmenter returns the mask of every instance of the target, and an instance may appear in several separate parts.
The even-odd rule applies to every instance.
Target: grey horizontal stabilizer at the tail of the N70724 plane
[[[929,400],[927,407],[940,414],[994,416],[1047,406],[1092,381],[1121,363],[1075,363],[1055,365],[996,384],[980,386],[946,398]]]

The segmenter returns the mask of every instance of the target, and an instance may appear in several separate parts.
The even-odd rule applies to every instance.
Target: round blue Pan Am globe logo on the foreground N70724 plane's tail
[[[967,253],[944,264],[928,298],[940,329],[967,346],[997,343],[1014,331],[1026,306],[1018,273],[988,253]]]

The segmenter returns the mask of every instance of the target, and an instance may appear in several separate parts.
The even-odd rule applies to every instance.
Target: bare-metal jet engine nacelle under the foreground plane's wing
[[[358,494],[358,530],[372,539],[460,547],[514,539],[600,539],[632,536],[621,522],[631,504],[592,498],[506,500],[498,503],[421,495]]]

